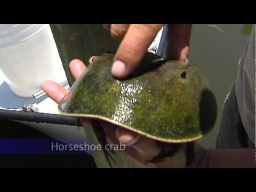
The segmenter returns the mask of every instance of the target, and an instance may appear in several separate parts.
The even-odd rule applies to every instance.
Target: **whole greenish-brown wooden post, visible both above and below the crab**
[[[116,51],[119,45],[119,42],[115,41],[102,25],[51,24],[50,26],[70,86],[75,81],[69,70],[71,60],[80,59],[88,65],[90,57]],[[99,141],[92,127],[84,126],[84,131],[87,139],[93,140],[98,145]],[[92,156],[97,167],[109,167],[103,152],[95,152]],[[116,161],[116,163],[112,162],[114,167],[138,167],[122,152],[116,151],[116,155],[113,156]]]

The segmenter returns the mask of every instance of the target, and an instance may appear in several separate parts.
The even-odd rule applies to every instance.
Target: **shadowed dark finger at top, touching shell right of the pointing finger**
[[[169,24],[166,55],[171,60],[187,61],[192,25]]]

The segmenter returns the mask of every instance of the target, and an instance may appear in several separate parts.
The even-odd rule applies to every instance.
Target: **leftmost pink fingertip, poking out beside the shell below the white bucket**
[[[42,89],[57,103],[59,103],[61,99],[68,93],[68,90],[53,81],[45,81],[42,85]]]

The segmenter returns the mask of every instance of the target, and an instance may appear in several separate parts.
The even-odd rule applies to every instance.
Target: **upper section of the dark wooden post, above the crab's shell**
[[[100,24],[50,24],[50,26],[70,86],[75,81],[69,70],[71,60],[80,59],[87,65],[90,57],[116,51],[119,45],[119,42],[111,38],[109,31]]]

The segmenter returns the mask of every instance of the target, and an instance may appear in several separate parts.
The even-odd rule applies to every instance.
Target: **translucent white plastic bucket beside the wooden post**
[[[66,81],[49,24],[0,24],[0,69],[20,97],[32,97],[45,80]]]

